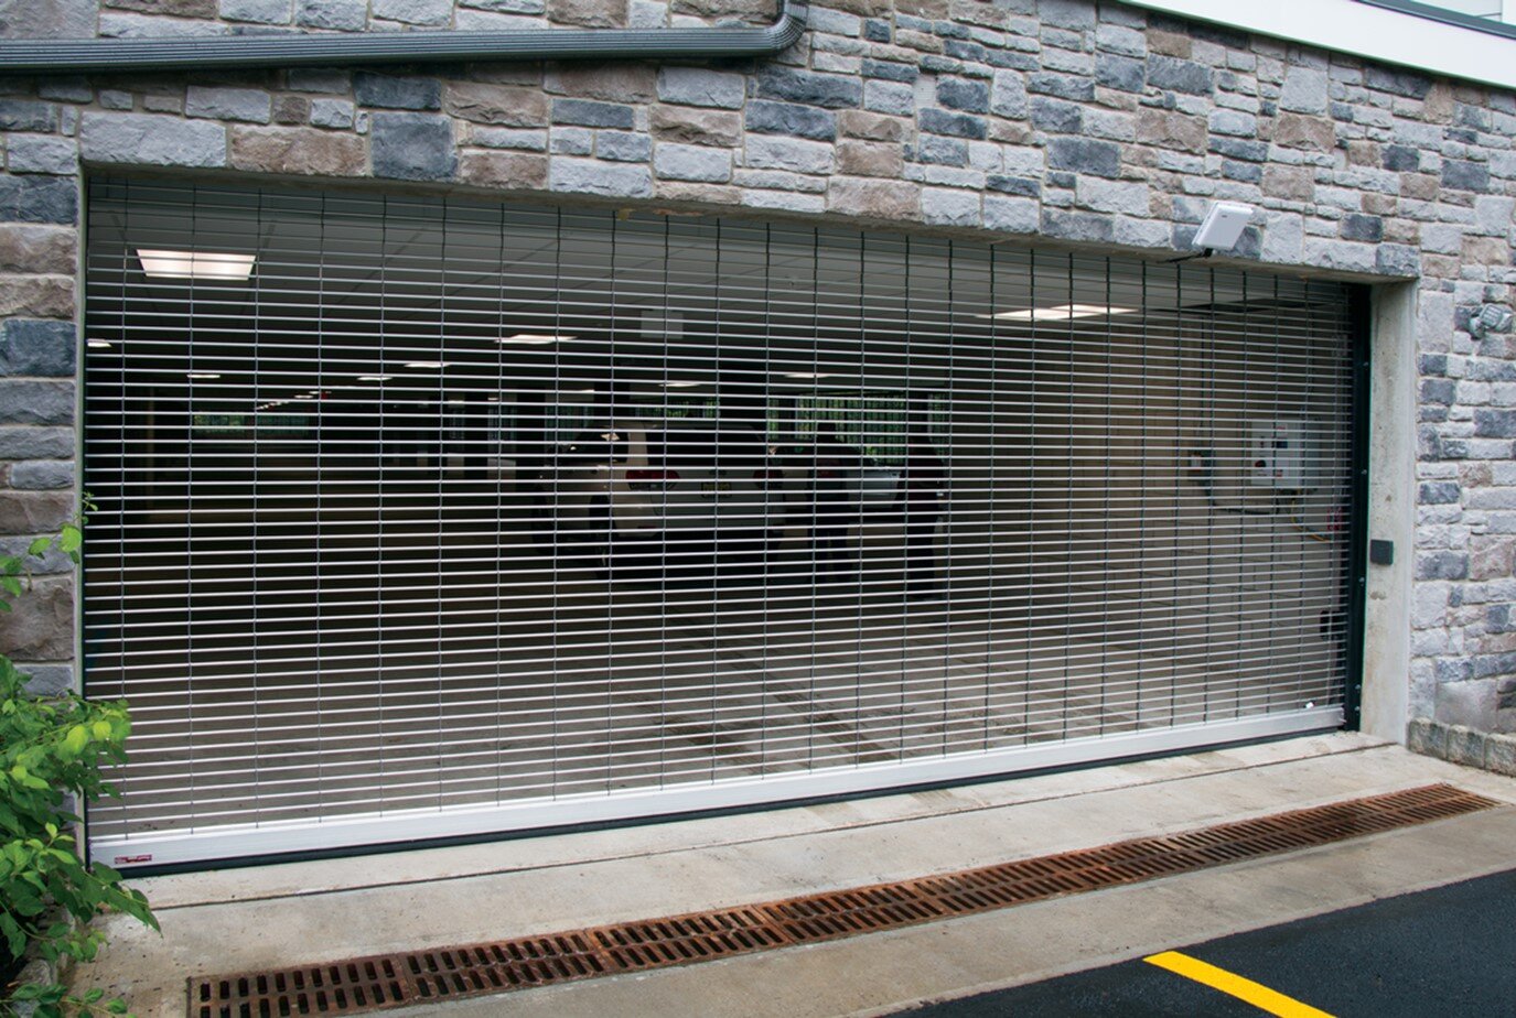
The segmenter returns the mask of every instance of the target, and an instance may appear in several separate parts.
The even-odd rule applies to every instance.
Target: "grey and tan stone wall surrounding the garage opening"
[[[0,0],[0,33],[772,14],[772,0]],[[1413,742],[1446,754],[1449,726],[1516,730],[1516,339],[1467,332],[1471,311],[1508,304],[1516,283],[1510,92],[1120,3],[828,0],[769,62],[0,77],[0,129],[6,550],[56,527],[77,492],[85,167],[421,182],[1158,253],[1187,247],[1210,200],[1249,201],[1260,215],[1243,259],[1420,279],[1407,680],[1411,717],[1428,721]],[[0,645],[61,685],[74,580],[67,562],[45,571],[0,621]]]

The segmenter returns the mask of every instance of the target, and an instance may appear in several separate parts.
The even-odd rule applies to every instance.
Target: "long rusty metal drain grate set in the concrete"
[[[1449,785],[1298,809],[1176,835],[1022,859],[920,880],[267,973],[194,977],[193,1018],[352,1015],[591,976],[687,965],[773,947],[988,912],[1410,827],[1501,803]]]

